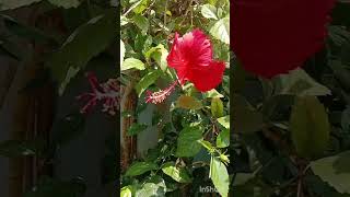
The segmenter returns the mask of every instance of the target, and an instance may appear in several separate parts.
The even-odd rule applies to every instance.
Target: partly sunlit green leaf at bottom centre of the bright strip
[[[174,162],[165,163],[162,167],[162,171],[178,183],[191,182],[187,171],[183,167],[177,167]]]

